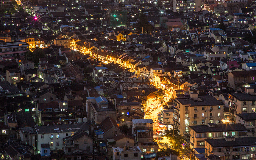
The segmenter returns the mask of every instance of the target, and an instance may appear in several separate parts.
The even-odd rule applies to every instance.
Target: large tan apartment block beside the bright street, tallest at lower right
[[[219,124],[223,119],[224,104],[211,95],[198,96],[190,93],[190,97],[175,98],[173,102],[174,127],[180,134],[189,135],[189,126]]]

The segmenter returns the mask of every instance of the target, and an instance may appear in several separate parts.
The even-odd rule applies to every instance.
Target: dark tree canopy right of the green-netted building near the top
[[[153,26],[149,23],[148,18],[143,13],[140,13],[138,18],[139,18],[139,21],[135,25],[138,31],[142,32],[142,27],[143,27],[143,33],[153,31],[154,29]]]

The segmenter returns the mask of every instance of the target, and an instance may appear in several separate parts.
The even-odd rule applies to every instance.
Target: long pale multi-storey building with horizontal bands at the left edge
[[[0,57],[3,59],[10,59],[15,56],[24,56],[28,46],[27,43],[21,41],[0,41]]]

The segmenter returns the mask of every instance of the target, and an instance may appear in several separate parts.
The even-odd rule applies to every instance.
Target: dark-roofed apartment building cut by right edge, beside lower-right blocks
[[[256,135],[256,113],[241,113],[235,114],[236,123],[241,123],[245,125],[247,129],[247,136],[254,137]]]

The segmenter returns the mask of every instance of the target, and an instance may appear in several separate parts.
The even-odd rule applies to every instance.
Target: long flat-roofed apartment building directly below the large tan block
[[[246,128],[241,124],[216,124],[189,126],[190,147],[205,148],[206,139],[223,138],[231,135],[234,137],[246,137]]]

